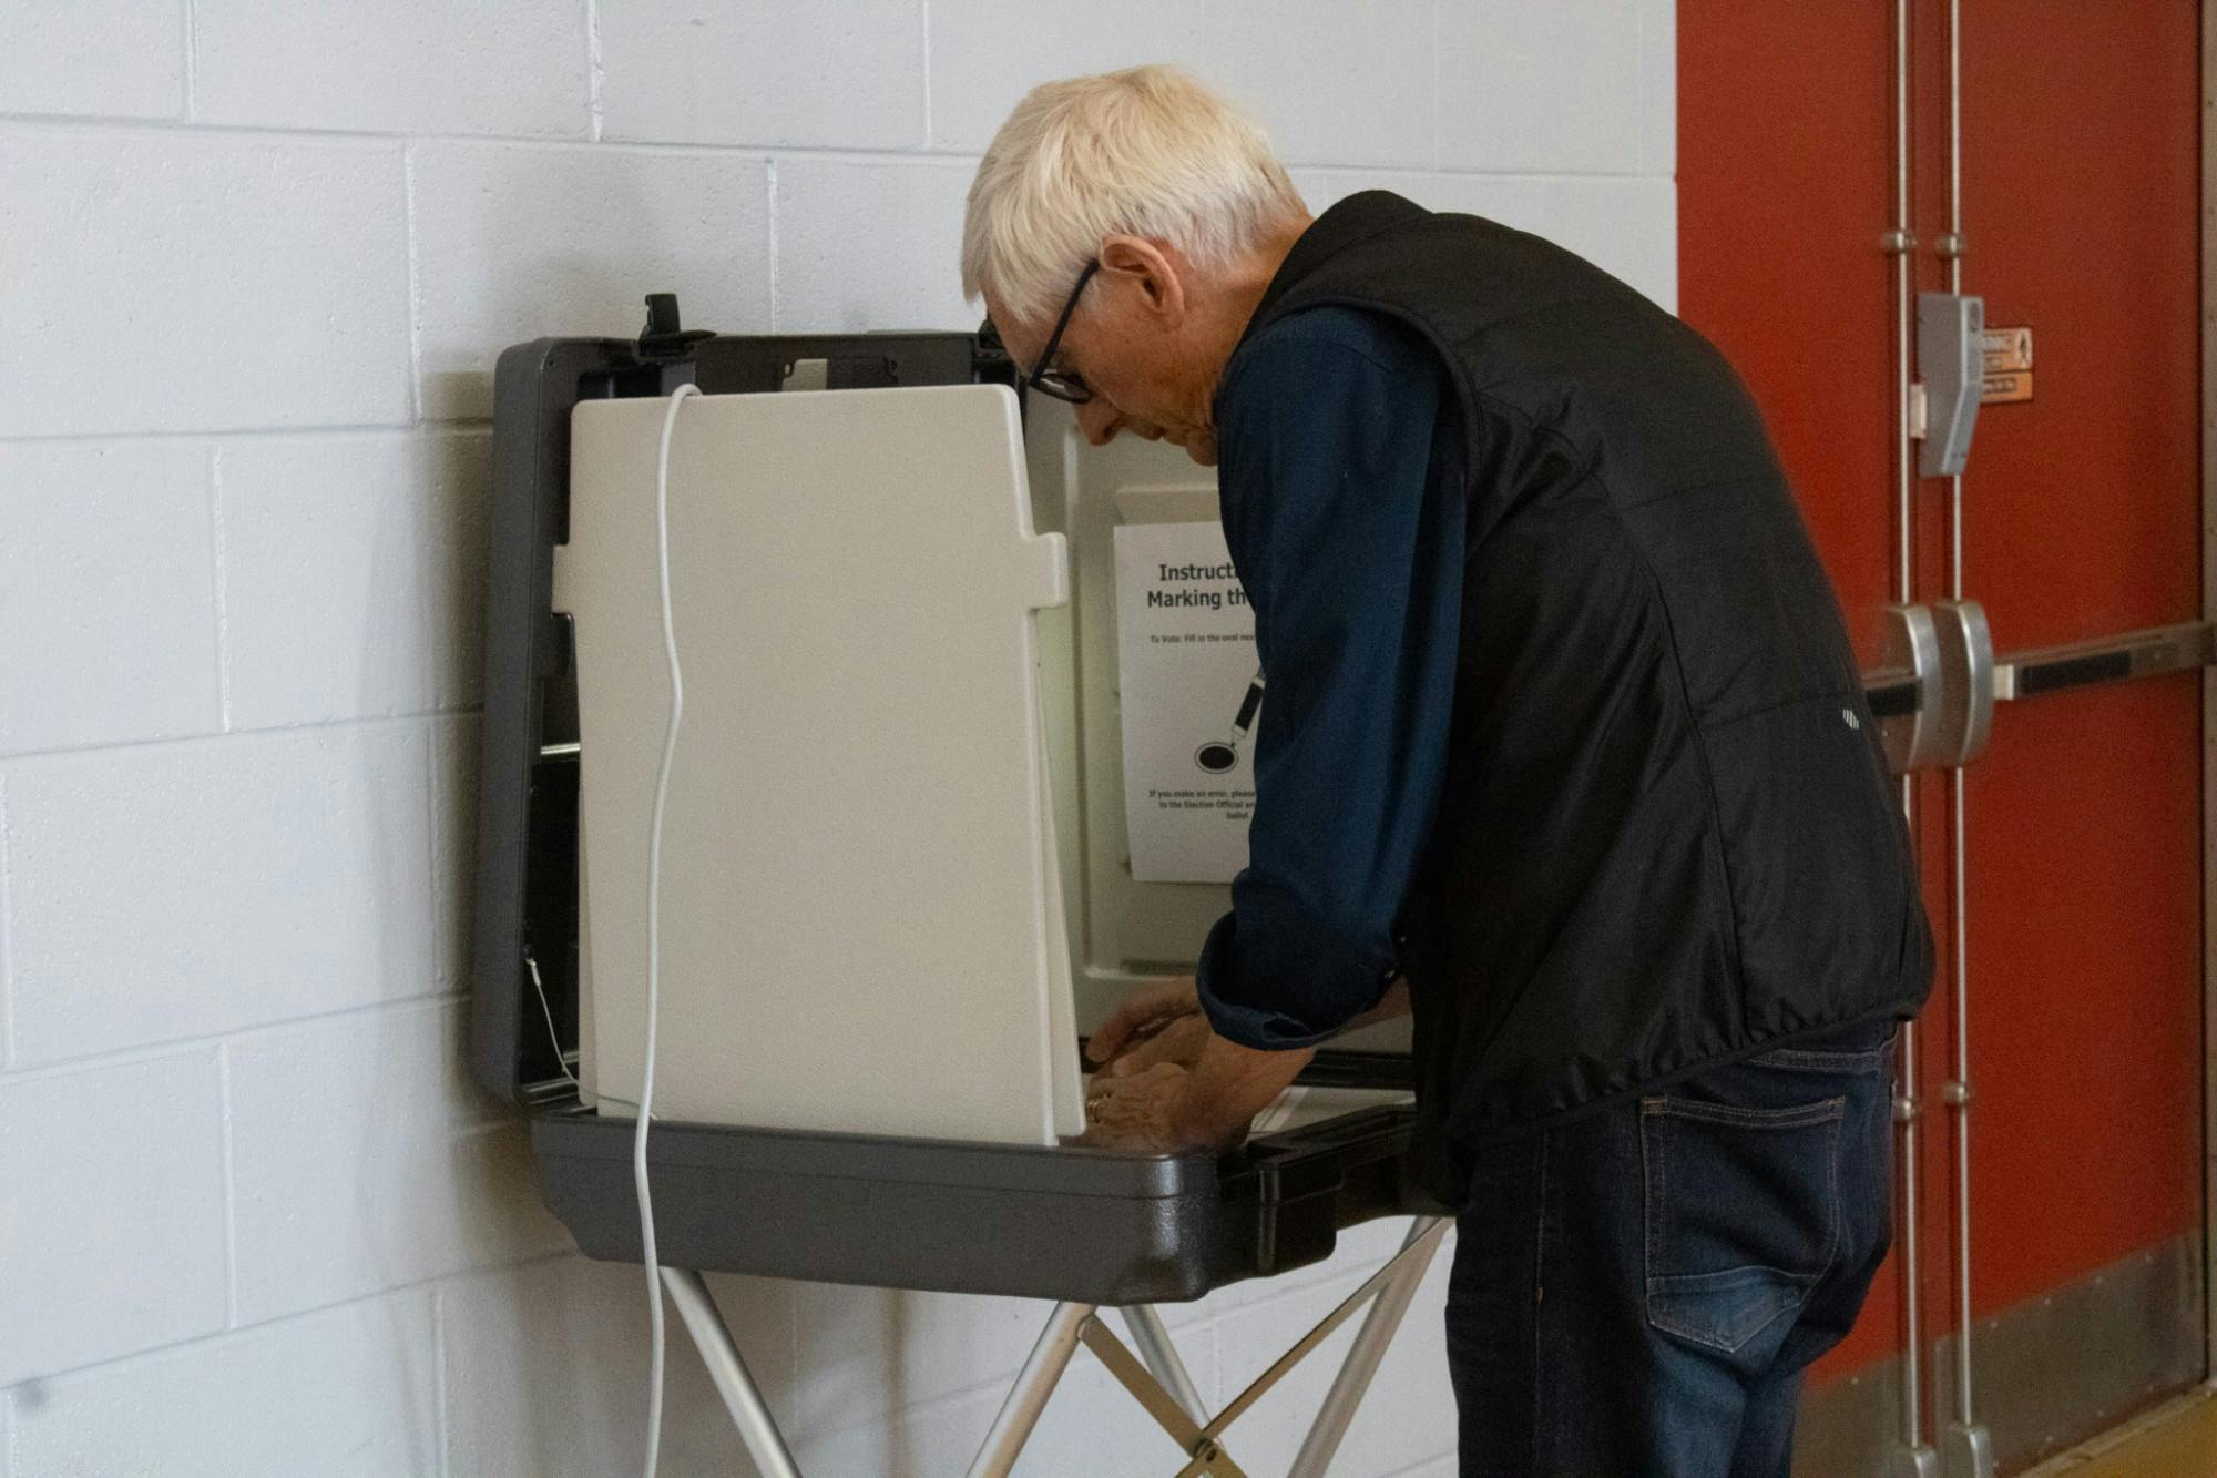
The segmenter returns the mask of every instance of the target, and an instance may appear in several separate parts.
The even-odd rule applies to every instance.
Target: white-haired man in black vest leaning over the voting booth
[[[1931,934],[1729,366],[1541,237],[1310,220],[1157,67],[1024,98],[962,275],[1095,444],[1219,468],[1270,684],[1233,910],[1095,1034],[1093,1136],[1235,1143],[1406,1003],[1463,1471],[1787,1474],[1887,1252]]]

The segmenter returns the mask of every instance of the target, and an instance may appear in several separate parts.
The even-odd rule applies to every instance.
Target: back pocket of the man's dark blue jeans
[[[1838,1256],[1845,1107],[1641,1101],[1649,1325],[1725,1354],[1785,1336]]]

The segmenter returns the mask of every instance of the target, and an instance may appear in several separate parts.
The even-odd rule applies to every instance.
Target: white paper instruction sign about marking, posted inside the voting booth
[[[1140,883],[1228,883],[1255,810],[1261,672],[1224,528],[1115,530],[1124,826]]]

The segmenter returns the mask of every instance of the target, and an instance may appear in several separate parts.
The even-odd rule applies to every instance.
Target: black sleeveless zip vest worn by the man
[[[1341,304],[1445,364],[1470,468],[1448,781],[1401,919],[1419,1161],[1909,1016],[1931,930],[1840,606],[1738,375],[1594,264],[1372,191],[1246,333]]]

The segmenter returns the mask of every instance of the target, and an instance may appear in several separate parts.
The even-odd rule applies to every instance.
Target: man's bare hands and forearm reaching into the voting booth
[[[1175,981],[1126,1001],[1086,1056],[1102,1067],[1086,1085],[1084,1143],[1177,1154],[1237,1145],[1315,1052],[1255,1052],[1217,1036],[1193,981]]]

